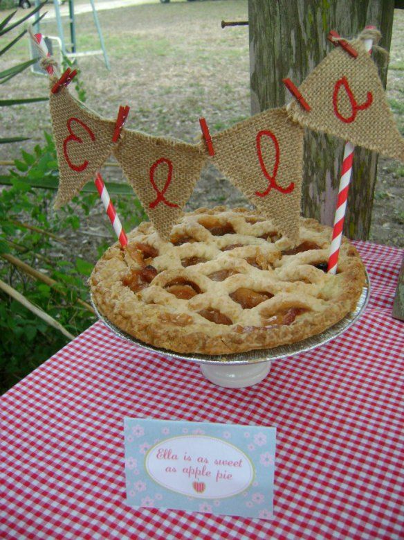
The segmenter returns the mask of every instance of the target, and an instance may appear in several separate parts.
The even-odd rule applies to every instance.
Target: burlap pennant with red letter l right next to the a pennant
[[[303,128],[270,109],[212,137],[214,164],[296,243],[302,191]]]

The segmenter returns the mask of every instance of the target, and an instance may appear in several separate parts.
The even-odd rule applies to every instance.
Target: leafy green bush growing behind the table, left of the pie
[[[111,238],[102,239],[98,249],[94,245],[97,238],[91,237],[91,254],[80,249],[87,238],[82,223],[91,223],[94,210],[101,212],[109,227],[108,218],[99,207],[98,193],[82,193],[56,213],[52,209],[55,191],[33,189],[31,182],[38,178],[58,183],[55,144],[48,134],[44,145],[35,146],[33,153],[21,150],[21,158],[15,160],[15,168],[7,176],[10,186],[0,191],[0,279],[77,336],[95,322],[95,315],[80,304],[80,300],[89,302],[86,281],[93,263],[115,241],[111,232]],[[120,218],[130,218],[125,227],[144,219],[143,209],[133,194],[130,198],[120,196],[115,203]],[[3,254],[21,259],[57,284],[51,287],[29,277],[4,259]],[[0,392],[17,383],[67,341],[62,333],[0,292]]]

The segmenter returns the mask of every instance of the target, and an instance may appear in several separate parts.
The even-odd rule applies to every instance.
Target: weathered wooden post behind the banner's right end
[[[330,30],[354,37],[374,25],[389,50],[394,0],[249,0],[251,112],[280,107],[291,100],[282,78],[295,85],[306,78],[329,51]],[[386,84],[387,67],[375,55]],[[333,225],[344,143],[335,137],[306,130],[302,214]],[[345,234],[369,236],[378,155],[357,148],[349,191]]]

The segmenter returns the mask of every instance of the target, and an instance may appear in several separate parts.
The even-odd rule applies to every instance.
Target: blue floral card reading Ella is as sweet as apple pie
[[[132,507],[273,518],[276,428],[125,418]]]

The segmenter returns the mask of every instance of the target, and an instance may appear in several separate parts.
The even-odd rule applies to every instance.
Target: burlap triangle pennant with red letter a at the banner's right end
[[[338,46],[302,82],[299,90],[311,110],[293,101],[288,107],[291,119],[403,161],[404,139],[394,123],[376,64],[362,40],[350,44],[358,52],[356,58]]]

